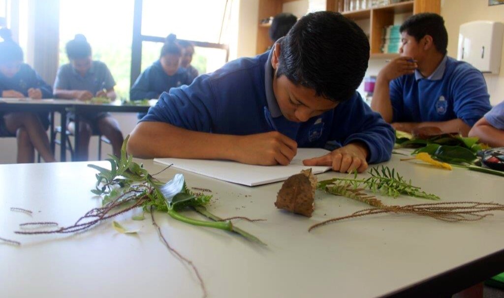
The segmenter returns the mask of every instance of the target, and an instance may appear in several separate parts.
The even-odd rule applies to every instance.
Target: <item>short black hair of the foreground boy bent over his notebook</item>
[[[369,60],[369,41],[353,21],[334,12],[307,14],[280,41],[277,77],[335,102],[352,97]]]

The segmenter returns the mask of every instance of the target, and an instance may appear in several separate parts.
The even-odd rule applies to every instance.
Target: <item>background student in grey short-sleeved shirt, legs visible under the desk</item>
[[[78,34],[66,45],[70,63],[59,67],[54,82],[54,95],[58,98],[90,100],[93,97],[115,99],[115,82],[107,65],[91,59],[91,46],[82,34]],[[77,160],[87,161],[89,140],[93,132],[105,135],[112,144],[112,152],[120,156],[123,141],[117,121],[109,113],[79,114],[79,148],[76,148]],[[69,115],[70,121],[75,115]],[[68,129],[74,131],[74,123]]]

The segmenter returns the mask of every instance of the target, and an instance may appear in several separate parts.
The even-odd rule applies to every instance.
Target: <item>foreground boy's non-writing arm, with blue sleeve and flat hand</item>
[[[305,160],[304,165],[332,166],[333,170],[340,172],[353,169],[362,172],[367,163],[390,159],[395,142],[394,130],[380,114],[371,111],[359,94],[336,107],[332,125],[331,139],[343,146],[326,156]]]

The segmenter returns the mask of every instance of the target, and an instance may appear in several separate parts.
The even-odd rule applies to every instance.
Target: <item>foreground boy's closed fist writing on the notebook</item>
[[[245,135],[238,139],[236,161],[261,166],[290,164],[297,142],[277,131]]]

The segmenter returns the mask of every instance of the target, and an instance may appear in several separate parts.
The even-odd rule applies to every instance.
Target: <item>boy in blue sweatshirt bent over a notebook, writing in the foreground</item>
[[[163,93],[135,127],[136,157],[232,160],[288,165],[298,147],[341,147],[305,160],[359,172],[390,159],[392,127],[355,91],[369,42],[334,12],[301,18],[270,52],[231,61],[190,86]]]

